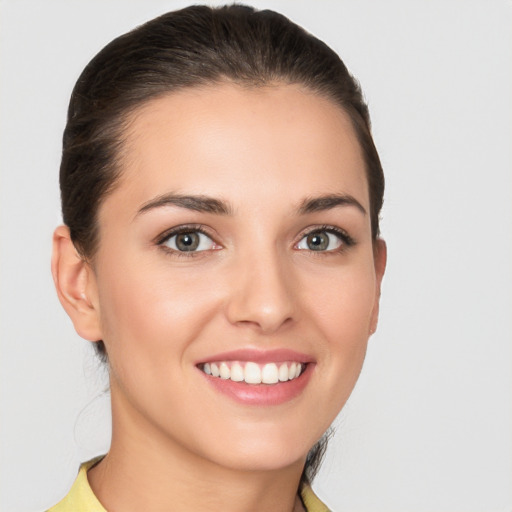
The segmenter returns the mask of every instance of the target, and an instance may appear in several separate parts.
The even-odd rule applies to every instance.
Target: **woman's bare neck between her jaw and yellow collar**
[[[304,510],[297,496],[304,460],[272,470],[224,467],[191,453],[154,426],[126,429],[127,424],[116,421],[114,408],[111,449],[88,473],[107,510]]]

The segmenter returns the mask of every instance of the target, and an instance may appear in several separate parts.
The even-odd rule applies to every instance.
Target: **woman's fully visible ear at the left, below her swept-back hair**
[[[76,332],[89,341],[101,340],[96,276],[75,249],[67,226],[59,226],[53,233],[52,275]]]

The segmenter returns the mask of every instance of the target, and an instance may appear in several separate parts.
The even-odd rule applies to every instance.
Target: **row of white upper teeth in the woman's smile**
[[[296,379],[304,368],[302,363],[267,363],[260,365],[252,361],[245,364],[238,361],[205,363],[200,367],[204,373],[224,380],[247,384],[277,384]]]

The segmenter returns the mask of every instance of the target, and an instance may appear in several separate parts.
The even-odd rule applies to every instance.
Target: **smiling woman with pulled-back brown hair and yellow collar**
[[[286,18],[190,7],[85,68],[52,271],[109,366],[109,453],[51,510],[326,510],[319,440],[386,262],[367,107]],[[309,453],[309,455],[308,455]]]

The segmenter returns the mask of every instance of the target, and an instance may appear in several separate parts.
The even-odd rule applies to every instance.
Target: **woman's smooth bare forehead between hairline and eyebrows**
[[[296,85],[222,84],[154,99],[130,118],[114,195],[196,193],[238,203],[349,193],[368,207],[348,115]]]

